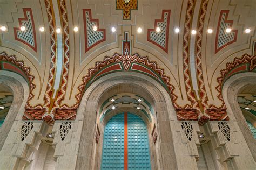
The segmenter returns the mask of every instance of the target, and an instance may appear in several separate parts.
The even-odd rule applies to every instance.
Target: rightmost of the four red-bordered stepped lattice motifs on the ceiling
[[[219,22],[217,27],[217,34],[215,39],[215,54],[227,45],[237,41],[238,30],[233,30],[230,33],[226,32],[227,28],[231,28],[233,20],[227,20],[228,10],[221,10],[219,16]]]

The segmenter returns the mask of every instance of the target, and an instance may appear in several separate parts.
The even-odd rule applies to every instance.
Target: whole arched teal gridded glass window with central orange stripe
[[[113,116],[105,126],[102,169],[151,169],[144,121],[131,113]]]

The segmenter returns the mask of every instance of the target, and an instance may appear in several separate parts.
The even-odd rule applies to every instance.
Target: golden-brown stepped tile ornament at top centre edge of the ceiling
[[[131,19],[131,10],[138,10],[138,0],[116,0],[116,10],[123,10],[123,19]]]

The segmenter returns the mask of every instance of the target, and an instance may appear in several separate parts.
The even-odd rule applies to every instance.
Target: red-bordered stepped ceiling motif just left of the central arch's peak
[[[85,52],[106,40],[106,29],[99,29],[99,19],[92,19],[91,9],[83,9]],[[93,26],[97,26],[94,31]]]

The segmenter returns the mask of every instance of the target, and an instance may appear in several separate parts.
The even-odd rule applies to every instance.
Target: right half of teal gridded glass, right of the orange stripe
[[[128,169],[151,169],[147,135],[144,121],[128,113]]]

